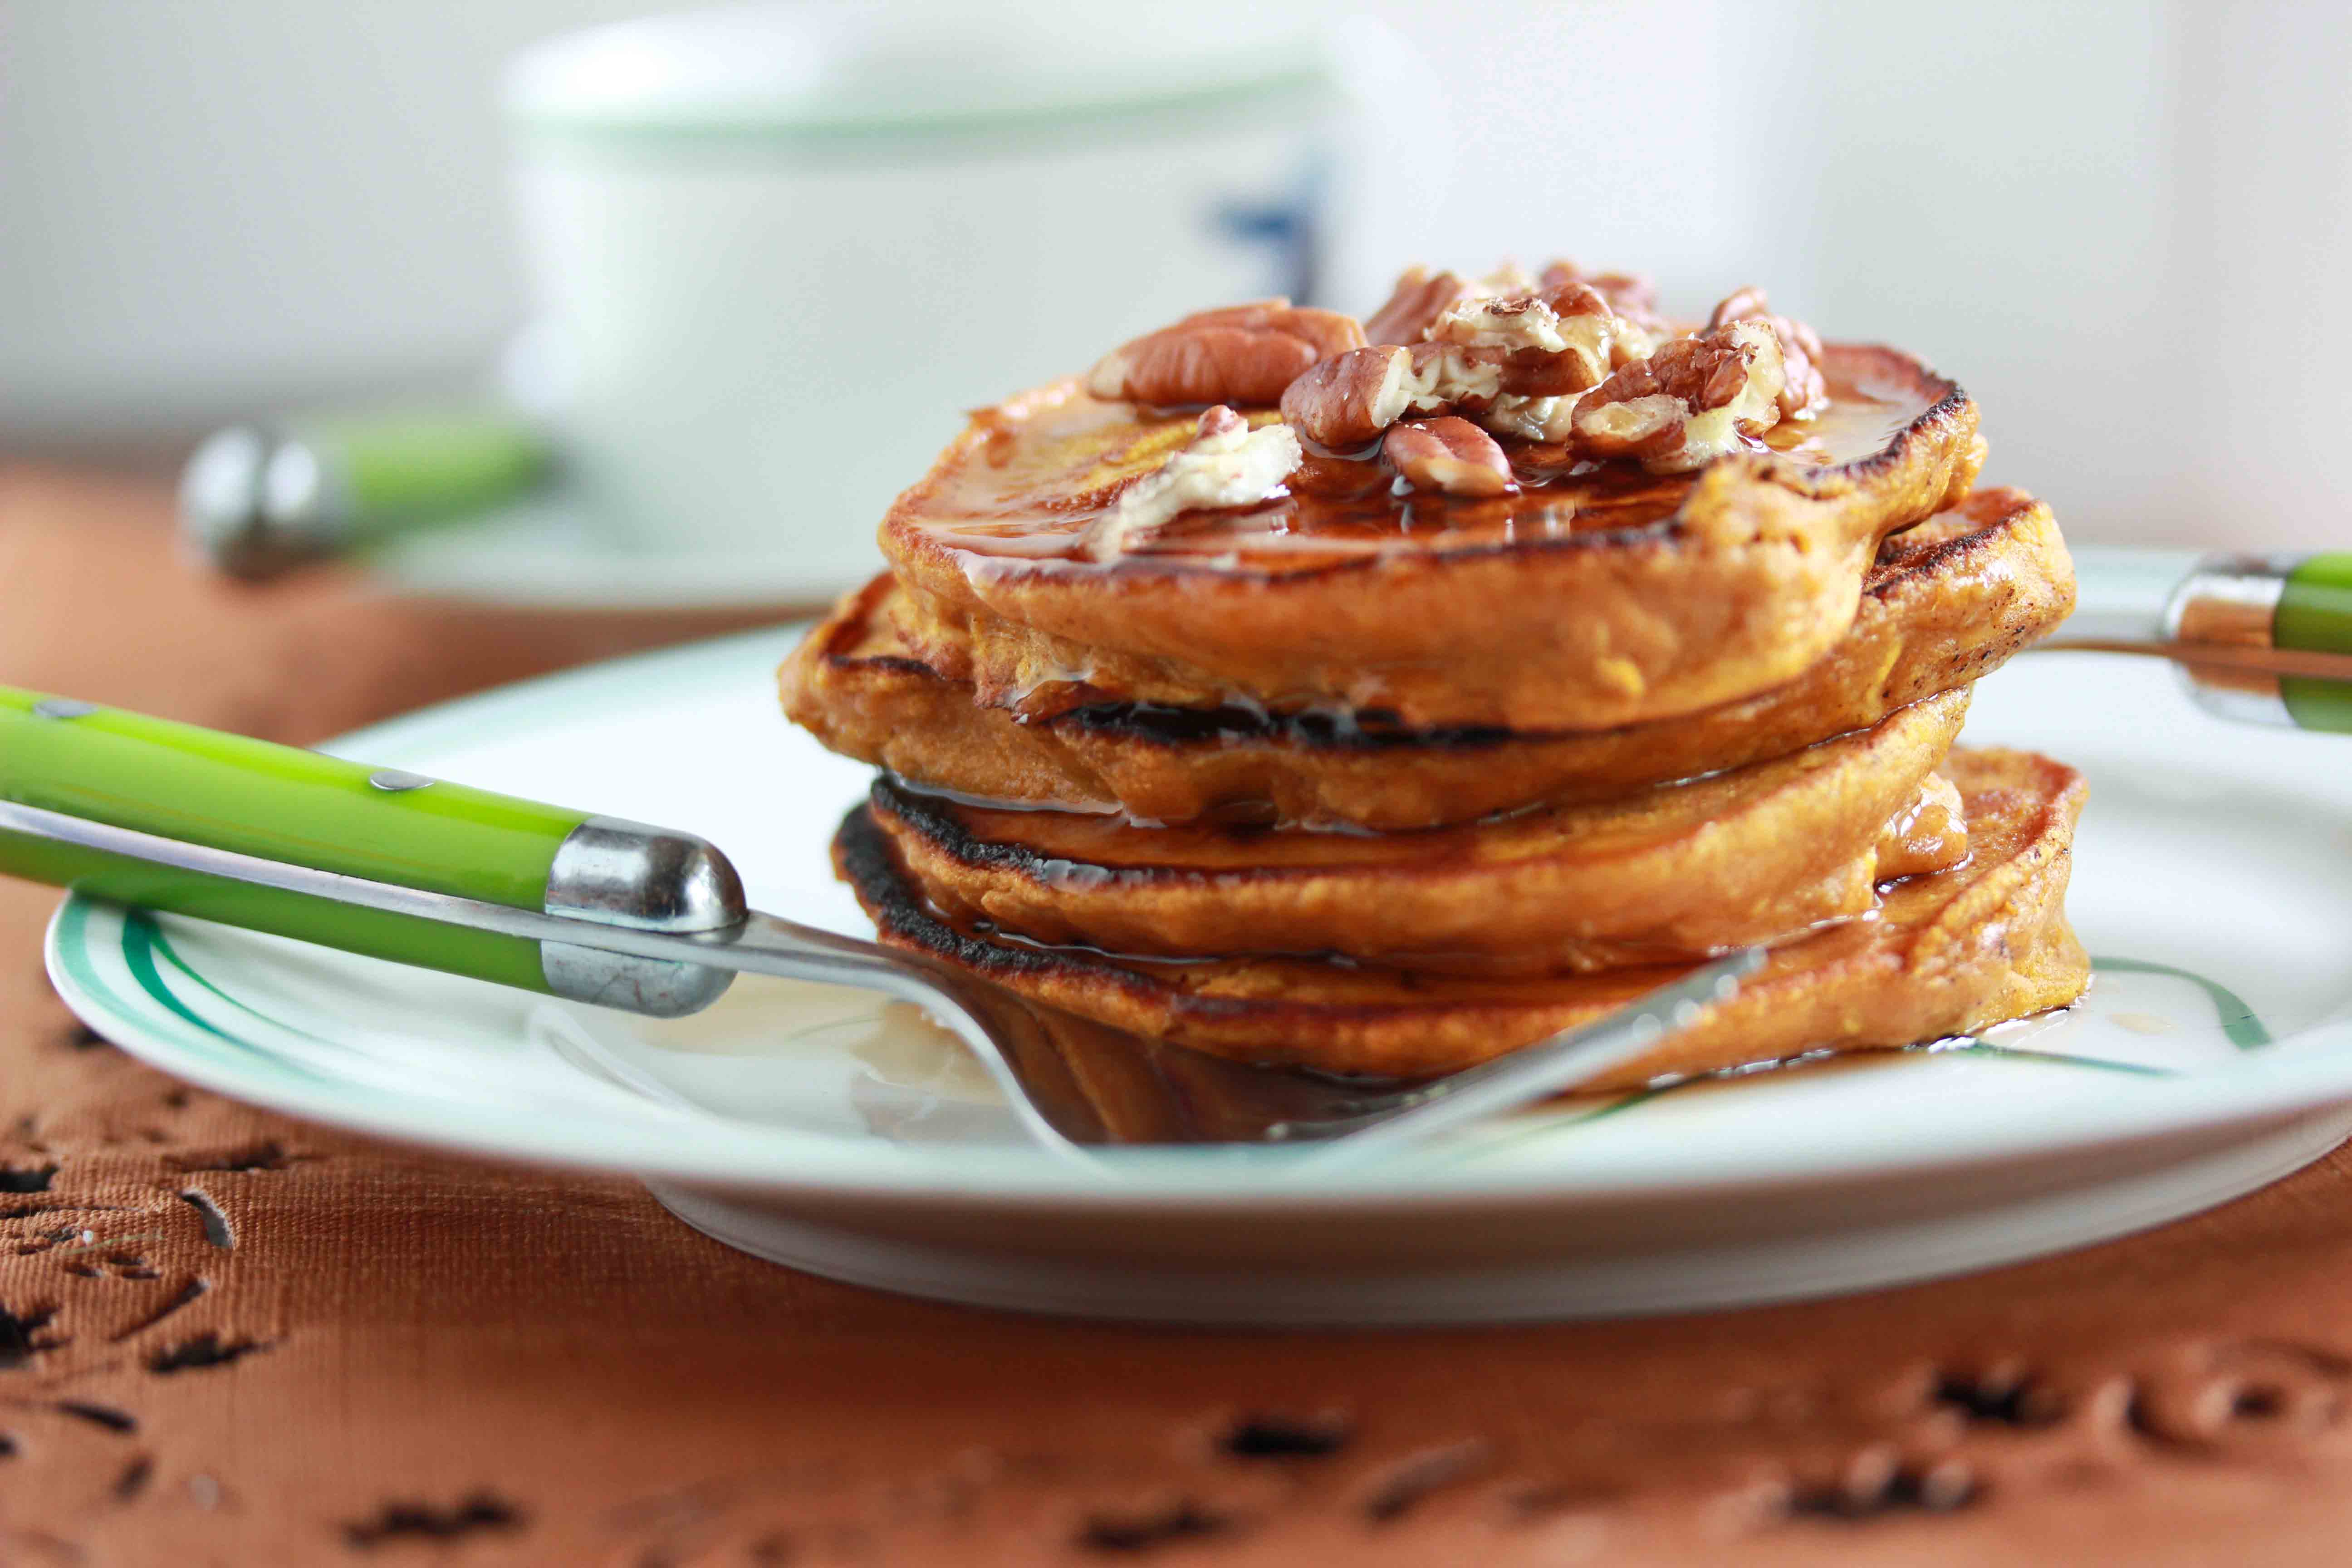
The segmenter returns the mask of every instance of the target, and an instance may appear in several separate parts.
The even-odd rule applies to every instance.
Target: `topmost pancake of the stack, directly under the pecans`
[[[896,630],[1025,715],[1240,701],[1555,731],[1738,701],[1820,658],[1879,541],[1966,496],[1983,461],[1976,404],[1917,360],[1832,346],[1823,371],[1828,411],[1698,473],[1522,444],[1515,494],[1456,498],[1310,458],[1277,501],[1190,512],[1110,559],[1094,545],[1120,494],[1197,421],[1058,381],[983,409],[891,505]]]

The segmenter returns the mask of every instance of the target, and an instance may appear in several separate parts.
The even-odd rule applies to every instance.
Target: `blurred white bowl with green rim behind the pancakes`
[[[1315,289],[1345,75],[1216,7],[757,5],[524,52],[529,346],[581,503],[851,583],[962,409]]]

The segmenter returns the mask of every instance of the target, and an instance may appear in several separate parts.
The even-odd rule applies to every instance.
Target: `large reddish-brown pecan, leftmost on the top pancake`
[[[1162,407],[1263,407],[1317,360],[1362,346],[1364,329],[1352,315],[1265,299],[1188,315],[1103,355],[1087,374],[1087,390]]]

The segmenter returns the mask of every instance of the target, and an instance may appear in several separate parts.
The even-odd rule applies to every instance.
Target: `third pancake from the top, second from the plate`
[[[1879,842],[1933,816],[1966,691],[1790,757],[1606,804],[1411,835],[1131,827],[873,788],[915,889],[964,926],[1138,957],[1343,954],[1524,976],[1778,943],[1877,905]],[[1947,865],[1966,839],[1940,839]],[[1910,865],[1922,851],[1907,849]]]

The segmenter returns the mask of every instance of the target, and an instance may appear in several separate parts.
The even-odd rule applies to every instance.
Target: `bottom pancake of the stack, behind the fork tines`
[[[1592,1088],[1816,1048],[1905,1046],[2074,1001],[2089,985],[2089,959],[2063,900],[2082,776],[2013,750],[1955,750],[1945,771],[1966,813],[1964,865],[1896,882],[1872,919],[1776,950],[1733,1001],[1708,1009]],[[1018,945],[941,919],[868,806],[842,823],[835,867],[884,943],[1134,1034],[1322,1072],[1454,1072],[1588,1023],[1682,973],[1470,980],[1312,959],[1155,964]]]

